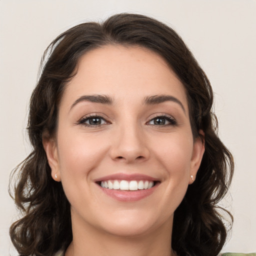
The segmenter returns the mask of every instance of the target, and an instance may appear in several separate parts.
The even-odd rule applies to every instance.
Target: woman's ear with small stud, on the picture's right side
[[[199,130],[199,136],[195,138],[193,144],[193,153],[190,160],[190,177],[189,184],[192,184],[195,180],[197,170],[199,169],[202,156],[204,153],[204,132]]]

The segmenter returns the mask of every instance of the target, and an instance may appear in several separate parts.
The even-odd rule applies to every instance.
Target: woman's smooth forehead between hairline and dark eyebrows
[[[183,84],[157,53],[140,46],[106,45],[86,52],[61,101],[83,94],[107,94],[114,99],[171,94],[186,106]],[[66,102],[65,102],[66,103]]]

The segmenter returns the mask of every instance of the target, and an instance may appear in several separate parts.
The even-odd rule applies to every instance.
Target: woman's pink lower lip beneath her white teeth
[[[141,190],[119,190],[119,189],[108,189],[104,188],[100,185],[98,187],[103,191],[105,194],[111,196],[114,199],[119,201],[138,201],[141,200],[150,194],[152,194],[159,184],[155,184],[153,187],[148,189],[141,189]]]

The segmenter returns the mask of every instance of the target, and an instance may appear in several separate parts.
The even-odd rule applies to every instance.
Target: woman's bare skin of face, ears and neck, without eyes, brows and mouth
[[[113,103],[74,104],[94,94],[108,95]],[[143,103],[158,94],[175,97],[183,108],[170,100]],[[100,125],[79,123],[91,114],[103,117]],[[162,115],[176,124],[164,118],[165,124],[154,124]],[[71,204],[73,241],[65,256],[174,255],[173,212],[193,182],[190,175],[196,176],[204,145],[192,136],[185,89],[162,57],[118,45],[85,53],[63,93],[56,136],[44,138],[43,145],[52,178],[62,182]],[[141,200],[119,201],[94,182],[119,172],[146,174],[160,183]]]

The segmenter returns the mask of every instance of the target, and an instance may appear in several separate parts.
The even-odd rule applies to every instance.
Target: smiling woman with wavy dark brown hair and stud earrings
[[[59,35],[30,100],[33,151],[17,168],[19,254],[217,255],[233,160],[212,101],[159,21],[123,13]]]

